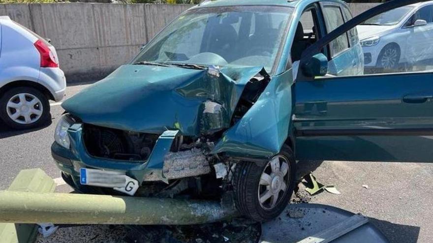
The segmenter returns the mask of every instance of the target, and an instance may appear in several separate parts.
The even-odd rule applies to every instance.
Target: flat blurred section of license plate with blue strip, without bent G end
[[[80,183],[104,188],[124,188],[126,175],[118,171],[81,168]]]

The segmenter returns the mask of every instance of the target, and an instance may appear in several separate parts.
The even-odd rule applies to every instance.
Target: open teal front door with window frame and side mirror
[[[417,2],[423,0],[383,3],[348,20],[303,53],[294,84],[298,159],[433,162],[432,60],[406,58],[405,63],[398,60],[394,70],[383,67],[369,75],[333,76],[328,68],[333,60],[322,54],[366,20]],[[414,20],[407,32],[425,24]],[[380,39],[380,34],[373,39]],[[428,41],[433,46],[433,39]],[[406,48],[400,50],[400,60],[414,50]],[[377,60],[379,69],[381,61]]]

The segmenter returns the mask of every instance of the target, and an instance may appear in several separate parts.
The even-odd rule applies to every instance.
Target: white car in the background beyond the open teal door
[[[433,1],[393,9],[357,27],[366,73],[433,63]]]

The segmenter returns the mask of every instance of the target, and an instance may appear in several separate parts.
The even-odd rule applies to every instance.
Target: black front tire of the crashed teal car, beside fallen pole
[[[281,181],[281,175],[277,178],[272,177],[272,162],[278,158],[279,166],[282,168],[282,163],[285,161],[288,165],[287,173],[282,176],[282,181],[285,182],[285,190],[278,190],[278,180]],[[270,171],[271,170],[271,171]],[[270,173],[271,172],[271,173]],[[282,171],[280,171],[283,173]],[[271,174],[271,181],[268,186],[261,184],[265,180],[261,180],[262,174]],[[235,204],[239,212],[255,221],[266,221],[277,217],[281,214],[289,203],[290,197],[295,188],[295,173],[296,173],[296,162],[293,156],[293,152],[288,146],[283,146],[281,152],[271,158],[268,162],[259,165],[255,162],[239,162],[236,165],[234,177],[233,177],[233,187],[235,195]],[[274,173],[275,174],[275,173]],[[286,178],[286,176],[288,178]],[[277,186],[275,186],[277,185]],[[281,183],[279,182],[279,185]],[[277,189],[273,189],[275,188]],[[274,196],[269,197],[263,203],[260,202],[259,197],[266,198],[267,190],[278,190],[277,201],[275,206],[272,206]],[[269,202],[270,207],[266,207]]]

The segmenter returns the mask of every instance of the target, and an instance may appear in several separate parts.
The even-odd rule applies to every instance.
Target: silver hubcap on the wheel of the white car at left
[[[7,102],[6,112],[16,123],[31,124],[42,116],[42,102],[32,94],[16,94]]]

